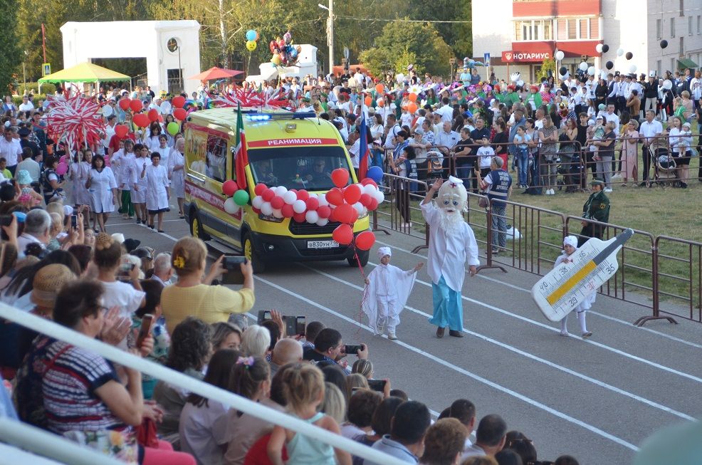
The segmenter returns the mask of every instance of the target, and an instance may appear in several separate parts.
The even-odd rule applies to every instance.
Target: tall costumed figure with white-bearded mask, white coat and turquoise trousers
[[[431,202],[436,192],[436,204]],[[463,182],[453,176],[444,182],[437,179],[421,202],[421,214],[431,228],[427,273],[431,278],[436,337],[443,338],[446,326],[449,335],[463,338],[463,303],[461,288],[466,275],[466,262],[471,276],[477,273],[478,244],[473,229],[463,221],[468,209],[468,194]]]

